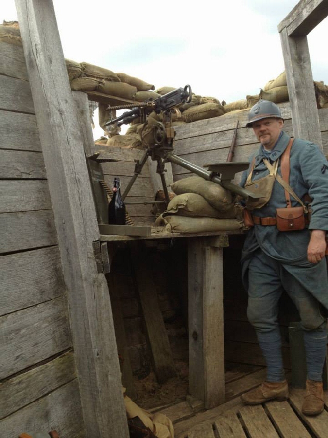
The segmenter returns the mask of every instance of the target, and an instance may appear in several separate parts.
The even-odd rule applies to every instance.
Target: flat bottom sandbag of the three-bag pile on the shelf
[[[237,219],[191,218],[179,215],[160,215],[155,225],[165,225],[167,233],[202,233],[209,231],[234,231],[243,227]]]

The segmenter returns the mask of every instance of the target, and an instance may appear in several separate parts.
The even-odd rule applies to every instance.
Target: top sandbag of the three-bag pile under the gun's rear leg
[[[171,190],[176,195],[197,193],[203,196],[213,208],[222,212],[229,211],[234,203],[234,197],[229,190],[226,190],[217,183],[204,180],[204,178],[198,175],[175,181],[171,184]]]

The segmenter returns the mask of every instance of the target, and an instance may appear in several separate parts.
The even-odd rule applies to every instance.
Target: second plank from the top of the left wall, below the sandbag
[[[0,90],[1,110],[35,113],[29,82],[0,75]]]

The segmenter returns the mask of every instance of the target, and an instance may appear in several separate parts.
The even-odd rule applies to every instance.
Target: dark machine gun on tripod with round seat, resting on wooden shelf
[[[231,180],[236,173],[242,172],[248,168],[248,162],[206,164],[204,167],[207,167],[208,170],[205,170],[203,167],[190,163],[173,153],[175,131],[172,126],[172,115],[174,112],[179,113],[179,106],[183,103],[189,103],[191,97],[191,87],[190,85],[186,85],[184,88],[177,88],[153,101],[142,102],[138,104],[138,106],[135,105],[132,110],[124,112],[120,117],[112,119],[106,124],[106,126],[109,126],[117,123],[118,126],[121,126],[130,123],[137,118],[140,118],[140,122],[144,124],[140,131],[140,137],[142,144],[145,147],[145,153],[141,160],[136,160],[134,175],[122,195],[123,200],[129,193],[136,178],[141,173],[148,157],[157,161],[156,171],[160,175],[167,204],[170,200],[164,177],[166,162],[178,164],[205,180],[220,184],[222,187],[240,195],[242,198],[251,198],[253,200],[259,199],[258,195],[256,196],[251,191],[231,183]],[[122,107],[109,108],[115,110]],[[154,118],[149,117],[152,111],[155,111],[156,114],[162,113],[163,122],[159,122]],[[150,121],[151,119],[152,122]]]

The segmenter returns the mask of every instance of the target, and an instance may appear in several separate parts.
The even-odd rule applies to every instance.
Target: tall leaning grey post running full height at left
[[[88,438],[129,437],[83,138],[52,0],[15,0],[58,234]],[[97,245],[96,245],[97,246]]]

